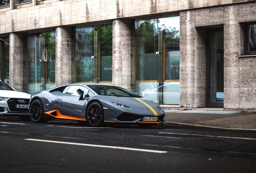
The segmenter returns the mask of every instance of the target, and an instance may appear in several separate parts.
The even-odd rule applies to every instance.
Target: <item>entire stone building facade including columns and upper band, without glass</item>
[[[0,36],[10,34],[10,86],[25,91],[23,35],[56,30],[56,86],[74,82],[74,30],[113,24],[113,84],[133,90],[134,22],[180,13],[180,107],[206,107],[206,30],[224,27],[224,108],[256,109],[256,56],[244,55],[244,22],[255,0],[32,0],[0,7]],[[25,33],[23,33],[25,32]],[[72,66],[73,65],[73,66]]]

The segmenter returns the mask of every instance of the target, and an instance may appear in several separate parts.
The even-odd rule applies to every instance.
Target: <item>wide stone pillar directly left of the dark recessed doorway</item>
[[[206,29],[196,28],[196,11],[180,12],[180,107],[206,103]]]

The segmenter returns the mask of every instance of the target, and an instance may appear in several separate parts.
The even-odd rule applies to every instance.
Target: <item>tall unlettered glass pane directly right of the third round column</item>
[[[135,92],[152,101],[158,101],[158,20],[135,22],[136,73]]]

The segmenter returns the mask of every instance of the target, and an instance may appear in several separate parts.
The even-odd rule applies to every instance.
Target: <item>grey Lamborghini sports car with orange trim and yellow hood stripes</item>
[[[35,123],[76,120],[97,127],[103,123],[165,124],[165,112],[155,102],[107,84],[68,84],[31,95],[29,113]]]

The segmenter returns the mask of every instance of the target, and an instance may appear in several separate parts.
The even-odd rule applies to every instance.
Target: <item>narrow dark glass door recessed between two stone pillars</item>
[[[224,106],[224,32],[223,28],[207,32],[207,94],[208,107]]]

